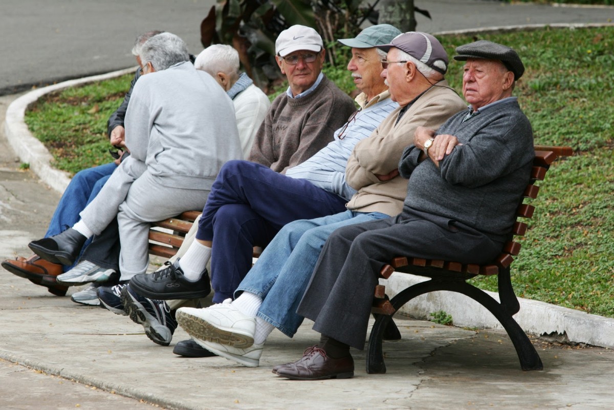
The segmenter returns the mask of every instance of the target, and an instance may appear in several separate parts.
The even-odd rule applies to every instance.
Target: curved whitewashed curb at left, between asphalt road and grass
[[[24,122],[26,109],[41,96],[64,88],[74,87],[88,82],[107,80],[119,75],[134,72],[136,68],[127,68],[107,74],[93,75],[77,80],[69,80],[49,87],[39,88],[15,99],[6,110],[4,131],[11,147],[20,160],[28,163],[30,169],[44,182],[56,191],[63,193],[70,182],[68,172],[60,171],[51,165],[53,157],[41,141],[36,139]]]

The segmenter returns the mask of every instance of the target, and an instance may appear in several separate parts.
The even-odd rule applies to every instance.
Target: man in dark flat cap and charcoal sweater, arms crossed
[[[454,114],[437,131],[416,130],[398,164],[409,179],[400,215],[344,226],[328,238],[298,306],[298,314],[314,320],[321,341],[297,362],[276,366],[279,376],[352,377],[349,347],[364,347],[378,273],[392,258],[481,264],[500,253],[534,157],[529,120],[511,96],[524,67],[514,50],[492,42],[456,52],[456,60],[467,61],[468,112]]]

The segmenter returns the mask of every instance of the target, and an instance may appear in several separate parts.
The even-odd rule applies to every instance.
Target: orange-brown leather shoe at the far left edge
[[[68,287],[58,285],[56,277],[62,274],[62,265],[42,260],[37,255],[29,258],[17,257],[2,262],[2,268],[12,274],[28,279],[35,285],[46,287],[50,293],[57,296],[66,295]]]

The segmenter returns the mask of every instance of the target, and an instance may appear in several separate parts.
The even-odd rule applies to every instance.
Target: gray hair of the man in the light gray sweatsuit
[[[157,34],[141,47],[141,63],[152,63],[155,71],[162,71],[188,60],[190,55],[185,42],[173,33]]]

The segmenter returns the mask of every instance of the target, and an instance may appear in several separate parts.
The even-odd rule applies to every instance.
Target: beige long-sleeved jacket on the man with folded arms
[[[437,83],[441,87],[431,87],[397,121],[398,107],[368,137],[359,141],[346,166],[346,182],[358,191],[347,207],[352,211],[381,212],[397,215],[403,209],[407,194],[407,180],[400,176],[381,182],[376,174],[385,175],[398,168],[403,149],[413,144],[414,133],[418,126],[437,130],[449,117],[467,104],[453,90],[449,90],[445,80]]]

